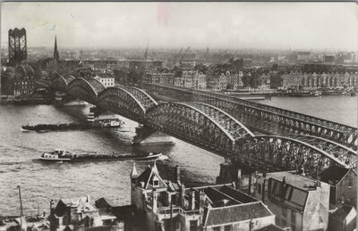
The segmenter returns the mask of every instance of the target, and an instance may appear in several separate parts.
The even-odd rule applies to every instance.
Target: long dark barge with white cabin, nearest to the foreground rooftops
[[[42,153],[39,158],[40,161],[51,162],[75,162],[75,161],[147,161],[162,157],[162,153],[142,153],[142,154],[98,154],[98,153],[86,153],[77,154],[70,153],[62,149],[56,149],[54,152]]]

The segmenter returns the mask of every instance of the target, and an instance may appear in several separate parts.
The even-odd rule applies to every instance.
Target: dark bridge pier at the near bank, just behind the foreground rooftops
[[[220,164],[217,185],[234,183],[235,188],[246,194],[254,193],[255,170],[238,163],[226,161]]]

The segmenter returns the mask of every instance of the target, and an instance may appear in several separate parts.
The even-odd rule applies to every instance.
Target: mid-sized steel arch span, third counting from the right
[[[98,95],[98,106],[138,122],[144,120],[147,111],[140,99],[124,87],[107,87]]]

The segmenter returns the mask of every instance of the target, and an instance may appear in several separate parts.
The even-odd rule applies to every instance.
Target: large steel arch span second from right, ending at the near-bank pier
[[[146,118],[151,128],[226,157],[238,139],[253,136],[226,112],[206,103],[161,103],[150,108]]]

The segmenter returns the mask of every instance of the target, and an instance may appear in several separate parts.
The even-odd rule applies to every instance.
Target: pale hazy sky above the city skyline
[[[29,46],[358,50],[355,3],[3,3]]]

